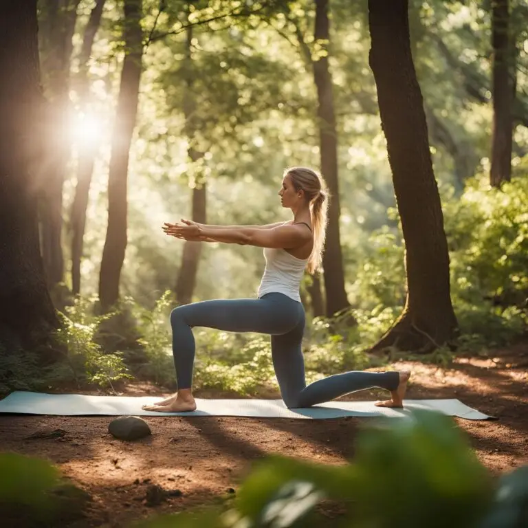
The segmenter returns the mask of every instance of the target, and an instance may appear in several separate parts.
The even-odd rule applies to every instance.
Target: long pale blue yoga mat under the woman
[[[311,408],[288,409],[281,399],[196,399],[194,412],[152,412],[141,408],[163,399],[156,396],[91,396],[17,391],[0,401],[0,412],[58,416],[240,416],[254,418],[327,419],[407,417],[413,409],[443,412],[469,420],[491,417],[458,399],[406,399],[404,409],[376,407],[373,401],[330,401]]]

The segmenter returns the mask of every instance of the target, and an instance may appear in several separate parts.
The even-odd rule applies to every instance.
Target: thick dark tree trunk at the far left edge
[[[36,0],[0,7],[0,353],[50,340],[58,320],[39,251],[34,169],[45,151]]]

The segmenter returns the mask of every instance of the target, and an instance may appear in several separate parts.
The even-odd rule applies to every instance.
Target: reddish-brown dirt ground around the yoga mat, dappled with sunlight
[[[528,463],[527,343],[494,351],[489,358],[459,358],[446,369],[417,362],[395,366],[413,371],[410,399],[458,398],[498,417],[456,419],[491,472],[500,474]],[[149,386],[127,388],[128,395],[153,393],[155,388]],[[363,392],[350,399],[381,395]],[[140,518],[183,511],[236,493],[252,463],[267,454],[345,463],[353,458],[358,427],[369,420],[144,417],[153,435],[127,443],[108,433],[111,419],[0,415],[0,450],[48,459],[90,494],[85,516],[69,526],[126,527]],[[64,430],[64,436],[27,439],[35,432],[56,429]],[[151,500],[153,485],[174,494],[153,504],[157,503]]]

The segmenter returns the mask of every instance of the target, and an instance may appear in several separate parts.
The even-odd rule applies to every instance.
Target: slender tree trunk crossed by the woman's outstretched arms
[[[189,143],[188,156],[193,164],[194,176],[192,182],[192,221],[206,223],[206,181],[197,170],[196,162],[203,157],[203,153],[195,150],[195,110],[196,103],[192,91],[194,71],[192,69],[192,26],[186,29],[186,57],[184,62],[184,78],[186,82],[184,94],[184,115],[185,131]],[[192,294],[195,292],[196,278],[201,255],[201,242],[185,241],[184,252],[181,256],[181,266],[179,268],[176,282],[176,300],[181,305],[188,305],[192,302]]]

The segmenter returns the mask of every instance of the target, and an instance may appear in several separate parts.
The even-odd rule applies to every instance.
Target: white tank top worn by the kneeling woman
[[[265,294],[284,294],[300,303],[299,287],[308,259],[298,259],[286,250],[264,248],[266,267],[259,286]]]

